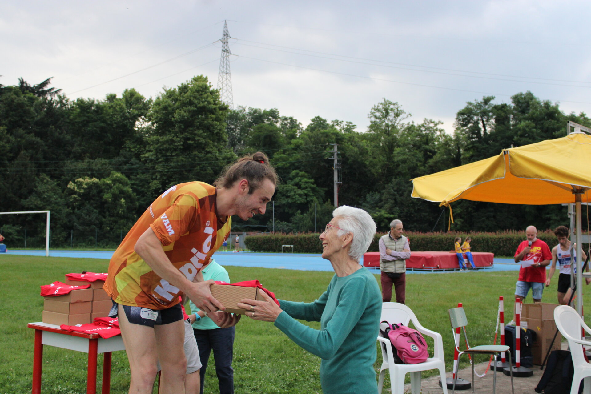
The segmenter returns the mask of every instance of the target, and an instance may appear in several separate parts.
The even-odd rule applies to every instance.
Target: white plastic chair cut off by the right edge
[[[569,341],[570,355],[573,359],[574,375],[573,384],[570,386],[570,394],[579,392],[579,385],[584,379],[583,393],[591,393],[591,364],[587,363],[583,354],[583,345],[591,346],[591,341],[583,340],[581,327],[587,333],[591,328],[585,324],[576,310],[568,305],[560,305],[554,308],[554,321],[558,331]]]

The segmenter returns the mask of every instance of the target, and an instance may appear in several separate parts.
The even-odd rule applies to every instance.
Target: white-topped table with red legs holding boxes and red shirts
[[[29,323],[35,329],[35,351],[33,358],[33,394],[41,393],[41,367],[43,366],[43,345],[88,353],[88,382],[86,394],[96,394],[96,361],[98,353],[103,353],[102,394],[111,389],[111,352],[125,350],[121,336],[101,338],[99,334],[76,333],[61,330],[59,325]]]

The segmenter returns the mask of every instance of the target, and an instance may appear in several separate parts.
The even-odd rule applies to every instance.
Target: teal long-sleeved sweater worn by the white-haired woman
[[[376,394],[374,362],[382,295],[374,275],[365,268],[333,276],[314,302],[280,300],[275,326],[291,340],[322,358],[320,385],[324,394]],[[314,330],[295,319],[320,321]]]

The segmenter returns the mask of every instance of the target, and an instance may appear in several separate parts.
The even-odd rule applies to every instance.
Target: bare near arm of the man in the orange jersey
[[[213,298],[209,286],[214,281],[204,281],[200,283],[191,283],[183,273],[174,268],[166,253],[162,249],[162,244],[154,231],[149,228],[139,237],[135,243],[134,250],[138,253],[156,275],[176,286],[180,291],[193,301],[197,307],[205,312],[223,310],[224,307],[217,299]]]

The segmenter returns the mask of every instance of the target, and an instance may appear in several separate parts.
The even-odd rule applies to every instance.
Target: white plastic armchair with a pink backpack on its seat
[[[445,363],[443,361],[443,340],[441,335],[435,331],[427,330],[421,323],[418,323],[417,317],[413,311],[404,304],[398,302],[384,302],[382,304],[382,317],[380,321],[388,321],[390,324],[402,323],[408,326],[408,322],[412,321],[414,328],[423,336],[428,336],[434,340],[433,358],[429,357],[426,362],[418,364],[395,364],[394,357],[392,357],[392,344],[389,338],[378,336],[378,343],[381,344],[382,349],[382,366],[379,369],[378,392],[382,392],[384,387],[384,377],[386,370],[390,370],[390,385],[392,394],[404,394],[404,377],[410,373],[411,392],[413,394],[420,394],[421,392],[421,371],[428,371],[430,369],[439,369],[441,382],[443,382],[443,394],[447,394],[447,385],[445,377]],[[385,349],[385,351],[384,351]]]

